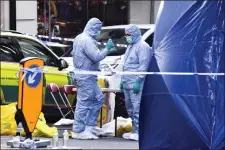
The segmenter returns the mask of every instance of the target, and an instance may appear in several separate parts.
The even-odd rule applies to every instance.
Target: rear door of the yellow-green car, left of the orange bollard
[[[17,102],[19,61],[23,58],[11,37],[0,37],[1,104]]]

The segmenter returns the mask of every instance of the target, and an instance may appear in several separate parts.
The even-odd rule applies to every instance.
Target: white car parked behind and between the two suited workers
[[[97,37],[98,47],[99,49],[105,48],[106,42],[109,38],[111,38],[115,44],[116,51],[111,52],[108,56],[100,62],[101,71],[113,72],[113,71],[122,71],[123,67],[123,57],[126,52],[127,42],[124,37],[124,30],[127,25],[116,25],[116,26],[105,26],[102,27],[100,36]],[[150,46],[153,43],[154,36],[154,24],[140,24],[137,25],[141,29],[142,39],[145,40]],[[61,58],[65,59],[69,67],[68,70],[73,69],[73,58],[71,56],[71,51],[68,50],[65,54],[61,56]],[[99,78],[105,78],[108,82],[108,88],[119,90],[120,84],[120,76],[118,75],[108,75],[108,76],[99,76]],[[126,117],[126,111],[124,105],[120,105],[120,99],[123,99],[124,95],[122,93],[117,92],[116,94],[110,93],[109,95],[109,103],[111,108],[114,110],[115,107],[122,107],[121,109],[117,109],[120,112],[115,112],[115,116],[124,116]],[[119,106],[120,105],[120,106]],[[111,115],[111,118],[114,118],[114,114]]]

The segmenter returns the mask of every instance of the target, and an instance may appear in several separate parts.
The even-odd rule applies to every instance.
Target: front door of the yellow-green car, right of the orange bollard
[[[59,71],[57,61],[59,58],[50,51],[44,44],[39,41],[32,40],[29,38],[15,37],[21,52],[24,57],[38,57],[42,58],[45,62],[44,66],[44,102],[46,106],[55,105],[55,102],[50,95],[50,92],[46,88],[49,83],[56,83],[58,86],[65,84],[72,84],[71,77],[66,71]],[[59,104],[62,104],[62,101],[59,97],[56,97]],[[73,100],[73,99],[71,99]],[[72,102],[71,102],[72,103]]]

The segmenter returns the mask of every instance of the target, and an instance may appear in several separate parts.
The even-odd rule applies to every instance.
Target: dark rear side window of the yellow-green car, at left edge
[[[10,37],[0,37],[0,61],[19,62],[22,58]]]

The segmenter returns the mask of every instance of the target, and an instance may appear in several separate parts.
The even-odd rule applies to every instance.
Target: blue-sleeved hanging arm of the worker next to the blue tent
[[[148,66],[149,62],[152,59],[153,51],[152,48],[149,46],[141,46],[141,49],[139,50],[138,53],[138,59],[139,59],[139,68],[138,72],[147,72],[148,71]],[[146,75],[138,75],[139,80],[143,80]]]

